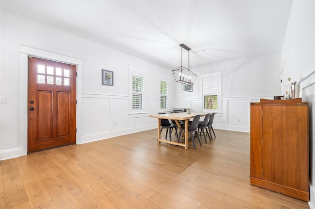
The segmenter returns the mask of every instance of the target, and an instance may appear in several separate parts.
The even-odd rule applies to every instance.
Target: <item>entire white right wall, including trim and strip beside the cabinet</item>
[[[315,1],[294,0],[282,48],[284,78],[301,82],[302,100],[310,103],[310,197],[315,208]],[[308,76],[312,74],[311,76]]]

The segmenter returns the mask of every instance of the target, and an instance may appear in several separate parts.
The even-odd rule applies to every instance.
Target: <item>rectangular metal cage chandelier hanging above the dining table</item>
[[[180,44],[182,47],[182,65],[173,70],[173,75],[176,82],[193,85],[197,76],[189,69],[189,50],[185,44]],[[188,69],[183,67],[183,48],[188,51]]]

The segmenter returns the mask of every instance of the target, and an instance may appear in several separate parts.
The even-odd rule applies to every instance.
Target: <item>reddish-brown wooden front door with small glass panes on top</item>
[[[76,66],[29,57],[28,152],[76,142]]]

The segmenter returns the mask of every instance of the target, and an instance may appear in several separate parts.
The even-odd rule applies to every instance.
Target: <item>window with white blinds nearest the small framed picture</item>
[[[132,76],[132,109],[144,109],[144,78]]]

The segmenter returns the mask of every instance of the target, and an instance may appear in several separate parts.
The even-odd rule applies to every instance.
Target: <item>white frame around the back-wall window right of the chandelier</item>
[[[222,73],[221,72],[217,72],[217,73],[209,73],[209,74],[204,74],[201,76],[202,78],[202,111],[204,112],[216,112],[216,113],[221,113],[222,112]],[[204,82],[205,82],[205,79],[216,79],[218,80],[218,96],[217,96],[217,99],[218,99],[218,109],[206,109],[205,108],[205,96],[208,96],[208,95],[205,95],[205,92],[204,92]],[[211,95],[209,95],[211,96]],[[213,96],[213,95],[212,95]]]

